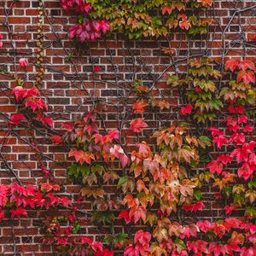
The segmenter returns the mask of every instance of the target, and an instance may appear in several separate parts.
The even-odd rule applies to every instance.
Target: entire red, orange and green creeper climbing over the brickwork
[[[1,71],[13,81],[4,93],[15,105],[15,113],[1,113],[6,120],[1,149],[9,137],[26,143],[40,174],[33,177],[34,185],[22,183],[1,150],[3,165],[11,175],[8,184],[0,185],[0,221],[20,220],[32,210],[44,210],[47,216],[43,242],[56,245],[63,255],[112,256],[116,251],[127,256],[256,254],[255,60],[245,56],[225,58],[225,50],[230,49],[226,44],[217,60],[207,52],[191,55],[189,51],[181,59],[182,47],[172,48],[171,32],[186,32],[188,44],[191,36],[207,33],[213,20],[204,18],[203,12],[212,7],[212,1],[61,0],[61,6],[78,18],[78,24],[69,29],[70,38],[83,43],[105,34],[107,38],[110,32],[124,32],[129,39],[166,37],[169,47],[160,51],[170,65],[147,84],[138,79],[134,61],[132,79],[119,81],[119,70],[111,56],[109,62],[116,78],[109,84],[117,91],[122,89],[124,95],[108,102],[97,96],[96,86],[108,81],[102,79],[104,70],[100,64],[95,65],[90,49],[92,90],[86,88],[73,53],[61,44],[47,17],[55,40],[67,53],[67,65],[73,65],[79,90],[88,95],[85,101],[92,106],[79,118],[61,122],[61,127],[55,129],[58,125],[48,113],[52,110],[47,96],[41,92],[44,72],[50,67],[43,59],[43,16],[47,9],[39,1],[35,81],[28,83],[20,75],[32,66],[26,57],[19,59],[19,73],[17,68]],[[253,7],[235,9],[234,13],[249,9]],[[6,11],[4,26],[16,53],[8,18]],[[230,23],[233,19],[234,16]],[[252,36],[249,38],[253,40]],[[1,34],[3,48],[4,39],[7,38]],[[82,44],[79,47],[84,50]],[[16,58],[15,55],[15,65]],[[187,65],[185,73],[179,71],[178,63],[180,67]],[[145,67],[140,64],[140,68]],[[112,113],[113,109],[117,109],[118,118],[114,128],[108,129],[108,110]],[[154,113],[159,123],[151,125],[147,113]],[[170,113],[166,123],[161,120],[161,113]],[[171,124],[168,118],[173,120]],[[217,120],[224,121],[224,125]],[[22,129],[27,138],[16,128]],[[148,136],[150,128],[154,132]],[[53,157],[45,154],[38,134],[47,137],[51,145],[61,147],[66,153],[64,159],[55,160],[55,152]],[[136,147],[127,143],[131,137]],[[215,150],[212,155],[211,148]],[[67,169],[64,181],[56,182],[55,166]],[[75,185],[76,192],[67,196],[66,185]],[[214,191],[223,218],[204,218],[204,210],[212,212],[212,201],[205,198],[206,188]],[[92,202],[90,211],[86,210],[88,202]],[[104,237],[96,240],[90,231],[84,231],[92,224]],[[117,232],[115,228],[120,226],[122,229]],[[12,236],[16,254],[15,230]]]

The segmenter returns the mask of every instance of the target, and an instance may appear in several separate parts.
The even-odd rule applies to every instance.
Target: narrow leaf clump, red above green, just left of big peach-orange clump
[[[92,218],[96,222],[105,224],[113,221],[112,211],[118,208],[118,201],[109,200],[102,187],[119,178],[117,172],[109,170],[110,163],[119,160],[123,168],[128,164],[124,150],[115,143],[119,139],[119,131],[101,134],[95,113],[87,113],[83,119],[71,125],[63,124],[63,127],[67,129],[66,140],[72,145],[69,157],[76,161],[67,168],[68,177],[82,184],[81,197],[94,199],[96,211]]]

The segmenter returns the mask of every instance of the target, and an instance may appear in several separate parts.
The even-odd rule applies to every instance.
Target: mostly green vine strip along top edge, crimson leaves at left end
[[[66,11],[78,15],[78,25],[69,30],[70,38],[95,41],[106,32],[125,32],[131,38],[167,36],[179,28],[189,35],[204,34],[212,19],[189,15],[212,6],[212,1],[75,1],[61,0]]]

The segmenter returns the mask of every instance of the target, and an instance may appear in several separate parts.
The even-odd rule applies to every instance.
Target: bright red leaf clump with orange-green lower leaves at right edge
[[[246,207],[247,218],[255,218],[252,207],[256,201],[256,142],[247,139],[246,135],[253,132],[253,125],[248,124],[245,114],[225,119],[230,137],[224,135],[217,127],[211,127],[212,142],[222,149],[229,145],[230,153],[219,154],[217,159],[210,161],[207,168],[214,177],[214,186],[219,189],[219,198],[226,198],[228,204],[224,207],[226,214],[231,214],[239,208]],[[228,172],[230,165],[236,163],[235,172]]]

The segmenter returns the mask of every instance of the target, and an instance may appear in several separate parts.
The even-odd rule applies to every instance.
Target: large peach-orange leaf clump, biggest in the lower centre
[[[196,166],[199,160],[197,148],[210,145],[206,137],[195,138],[188,134],[185,126],[172,126],[156,131],[158,150],[153,153],[148,143],[138,143],[137,150],[131,154],[131,172],[135,179],[122,177],[119,186],[122,187],[125,198],[123,203],[129,212],[122,211],[119,218],[125,218],[126,223],[135,224],[141,219],[143,223],[154,226],[160,219],[177,212],[178,207],[185,211],[201,211],[204,204],[200,191],[204,178],[189,178],[188,170]],[[129,183],[129,185],[128,185]],[[131,195],[137,190],[137,196]],[[195,195],[194,195],[195,194]],[[193,201],[198,201],[197,205]],[[159,205],[158,217],[150,211],[153,205]],[[191,207],[191,209],[189,208]]]

